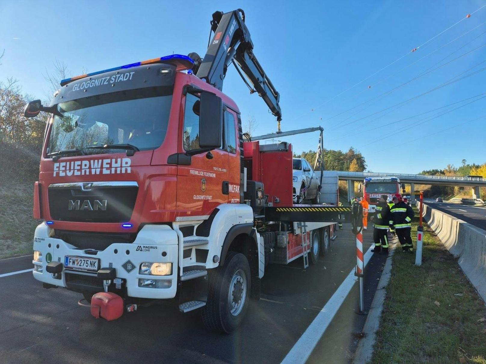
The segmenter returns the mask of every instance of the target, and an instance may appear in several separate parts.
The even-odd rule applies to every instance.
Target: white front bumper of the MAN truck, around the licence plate
[[[111,244],[104,250],[90,250],[76,248],[61,239],[53,237],[53,230],[41,223],[35,229],[34,250],[40,251],[42,261],[35,262],[33,275],[38,281],[66,287],[71,290],[80,290],[83,284],[92,284],[96,290],[101,283],[99,291],[103,291],[103,282],[97,280],[97,272],[86,272],[67,269],[64,267],[65,256],[84,258],[98,258],[98,269],[115,268],[116,278],[120,279],[126,294],[135,298],[174,298],[177,291],[178,271],[178,242],[177,233],[167,225],[145,225],[138,233],[136,240],[129,243]],[[94,253],[94,254],[93,254]],[[55,278],[46,271],[46,265],[50,262],[61,262],[63,269]],[[142,263],[172,263],[172,274],[166,276],[140,274]],[[160,285],[164,288],[141,287],[140,280],[164,280]],[[81,282],[81,285],[80,285]],[[87,287],[89,287],[87,285]],[[110,288],[116,288],[115,282],[111,282]]]

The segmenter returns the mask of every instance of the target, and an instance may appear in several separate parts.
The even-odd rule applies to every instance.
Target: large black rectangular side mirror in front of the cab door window
[[[221,148],[223,143],[223,101],[220,97],[201,93],[199,106],[199,146]]]

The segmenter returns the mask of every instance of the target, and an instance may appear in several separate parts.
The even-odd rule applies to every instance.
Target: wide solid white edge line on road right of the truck
[[[364,254],[364,266],[368,264],[372,247]],[[358,277],[354,275],[354,268],[349,272],[346,279],[341,283],[336,292],[332,295],[322,310],[315,316],[307,330],[300,336],[294,347],[289,351],[287,356],[282,360],[282,364],[305,364],[312,353],[313,348],[317,345],[322,335],[328,328],[334,315],[338,312],[347,295],[354,286]]]

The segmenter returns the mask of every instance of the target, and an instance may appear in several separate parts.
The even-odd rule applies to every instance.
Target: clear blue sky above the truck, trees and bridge
[[[326,148],[353,146],[364,154],[368,169],[376,172],[416,173],[449,163],[460,165],[463,158],[485,163],[486,148],[480,140],[484,141],[486,117],[470,120],[486,116],[486,99],[476,98],[415,128],[411,125],[427,116],[476,99],[411,116],[486,92],[486,70],[480,71],[486,62],[479,64],[486,61],[486,46],[481,47],[486,44],[486,7],[410,52],[484,4],[467,0],[121,0],[45,1],[42,5],[0,1],[0,51],[5,49],[0,81],[15,77],[25,93],[45,98],[48,85],[43,75],[55,59],[74,76],[83,69],[93,72],[172,53],[196,51],[203,56],[211,14],[241,7],[254,53],[280,92],[283,131],[321,125]],[[474,71],[479,72],[393,106]],[[258,133],[276,131],[277,122],[263,100],[249,94],[232,68],[223,91],[239,105],[243,121],[249,114],[255,116]],[[396,123],[381,127],[392,122]],[[313,133],[285,140],[300,152],[315,149],[317,138]]]

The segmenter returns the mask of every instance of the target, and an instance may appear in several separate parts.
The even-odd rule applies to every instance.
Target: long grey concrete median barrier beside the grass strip
[[[425,203],[422,215],[486,301],[486,231]]]

